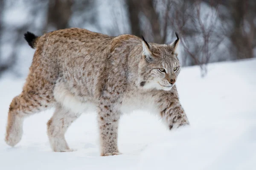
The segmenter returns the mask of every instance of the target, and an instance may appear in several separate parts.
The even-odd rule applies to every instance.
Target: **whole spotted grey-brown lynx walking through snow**
[[[10,146],[20,142],[24,118],[52,107],[47,134],[55,152],[72,151],[64,135],[84,112],[97,111],[101,156],[120,154],[122,113],[156,113],[170,130],[189,125],[175,86],[180,72],[178,34],[169,45],[80,28],[24,36],[36,51],[23,91],[9,106],[5,141]]]

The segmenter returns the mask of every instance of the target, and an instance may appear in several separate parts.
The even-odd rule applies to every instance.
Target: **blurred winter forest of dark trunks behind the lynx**
[[[26,77],[34,50],[26,31],[69,27],[181,43],[182,66],[256,56],[256,0],[0,0],[0,77]]]

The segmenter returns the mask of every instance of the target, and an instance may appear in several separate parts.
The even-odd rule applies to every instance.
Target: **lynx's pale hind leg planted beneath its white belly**
[[[52,118],[47,123],[47,134],[54,152],[74,151],[68,146],[65,133],[68,127],[81,115],[57,105]]]

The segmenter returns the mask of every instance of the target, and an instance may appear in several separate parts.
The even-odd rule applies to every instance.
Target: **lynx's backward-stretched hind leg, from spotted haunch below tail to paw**
[[[35,51],[29,75],[23,91],[16,96],[10,105],[5,141],[15,146],[22,136],[22,125],[25,117],[43,111],[55,104],[53,88],[58,78],[56,61],[44,56],[45,50],[39,45]]]

